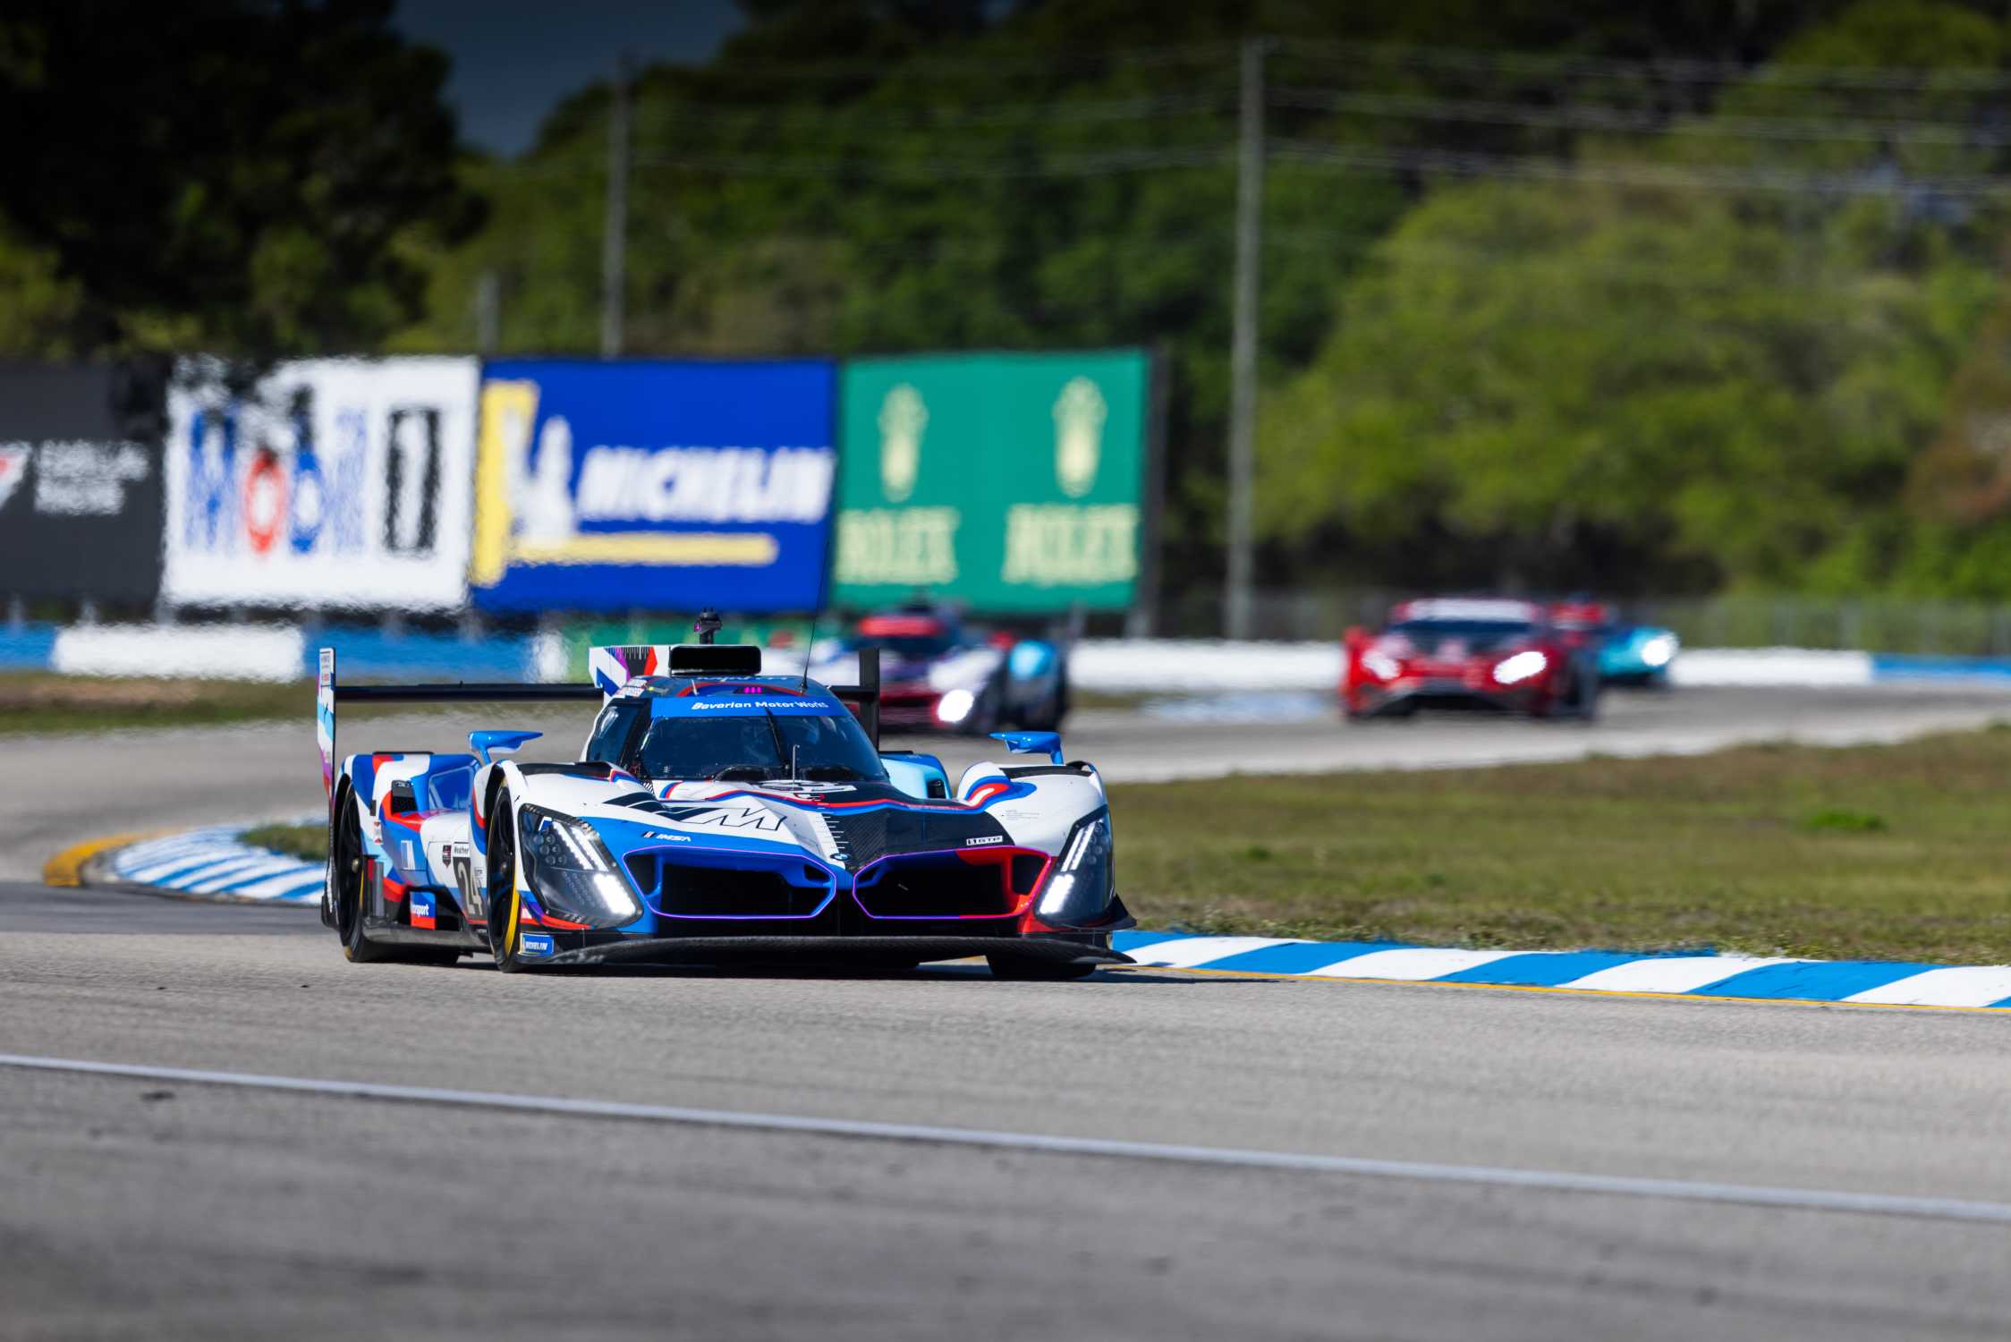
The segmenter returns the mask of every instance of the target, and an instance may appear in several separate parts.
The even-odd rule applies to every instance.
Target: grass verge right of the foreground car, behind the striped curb
[[[1110,789],[1146,928],[2011,962],[2011,730]],[[247,843],[320,861],[322,825]]]

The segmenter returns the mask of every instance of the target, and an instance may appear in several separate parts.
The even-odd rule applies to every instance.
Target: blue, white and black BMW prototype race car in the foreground
[[[1128,964],[1104,785],[1054,732],[1003,732],[1046,759],[973,765],[951,789],[935,757],[877,748],[873,654],[837,690],[730,644],[595,648],[591,674],[346,686],[322,650],[322,921],[352,962]],[[473,732],[465,754],[336,750],[346,702],[581,698],[601,708],[569,765],[511,759],[529,730]]]

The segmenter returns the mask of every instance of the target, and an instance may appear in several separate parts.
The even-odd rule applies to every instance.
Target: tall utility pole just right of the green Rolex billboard
[[[1243,42],[1243,99],[1237,129],[1237,278],[1229,346],[1229,571],[1223,628],[1251,636],[1253,525],[1257,473],[1257,264],[1263,245],[1263,38]]]

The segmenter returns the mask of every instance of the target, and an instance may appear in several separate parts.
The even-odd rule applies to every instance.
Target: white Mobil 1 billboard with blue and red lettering
[[[473,358],[328,358],[237,386],[215,360],[183,360],[169,392],[167,600],[465,606],[479,378]]]

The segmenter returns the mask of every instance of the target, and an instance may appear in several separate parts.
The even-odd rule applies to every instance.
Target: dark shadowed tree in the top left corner
[[[267,356],[372,348],[410,322],[424,276],[404,239],[465,235],[479,201],[454,179],[446,58],[390,10],[10,4],[0,219],[58,294],[0,340]]]

